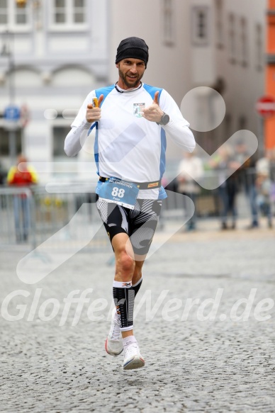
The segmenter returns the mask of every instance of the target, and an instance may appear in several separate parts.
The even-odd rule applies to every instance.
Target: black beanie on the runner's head
[[[116,53],[116,63],[120,60],[132,57],[133,59],[140,59],[145,62],[145,68],[149,59],[149,47],[144,40],[140,38],[127,38],[121,40]]]

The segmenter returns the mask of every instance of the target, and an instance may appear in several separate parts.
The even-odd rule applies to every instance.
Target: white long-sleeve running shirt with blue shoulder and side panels
[[[167,113],[167,125],[157,125],[142,117],[142,108],[152,104],[159,91],[159,107]],[[68,156],[76,155],[94,126],[86,121],[86,108],[92,99],[103,94],[101,119],[96,125],[94,155],[99,176],[130,182],[150,182],[162,179],[165,170],[166,132],[186,152],[195,148],[189,123],[181,115],[176,102],[164,89],[142,84],[138,89],[123,91],[116,85],[91,91],[72,123],[64,142]],[[100,186],[101,183],[99,183]],[[138,198],[162,199],[163,188],[140,191]]]

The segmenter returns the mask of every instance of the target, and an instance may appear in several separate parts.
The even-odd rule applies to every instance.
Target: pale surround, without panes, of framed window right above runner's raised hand
[[[201,14],[205,18],[205,28],[203,36],[200,35],[200,18]],[[210,42],[210,7],[209,6],[193,6],[192,8],[192,19],[191,19],[191,30],[192,30],[192,44],[195,46],[208,46]]]

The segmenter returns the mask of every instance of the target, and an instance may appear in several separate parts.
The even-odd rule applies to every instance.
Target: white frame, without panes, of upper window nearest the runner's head
[[[87,0],[84,0],[84,19],[83,23],[75,23],[73,16],[74,16],[74,0],[64,0],[65,6],[65,22],[64,23],[56,23],[55,22],[55,0],[50,0],[50,30],[54,31],[69,31],[69,30],[86,30],[88,28],[88,21],[87,21]],[[89,0],[91,1],[91,0]]]

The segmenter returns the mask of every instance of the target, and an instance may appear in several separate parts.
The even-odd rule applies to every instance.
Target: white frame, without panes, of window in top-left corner
[[[7,1],[7,16],[8,21],[6,24],[0,24],[0,33],[9,30],[12,33],[29,32],[32,28],[30,1],[26,2],[24,9],[26,10],[26,23],[16,23],[16,0]],[[19,9],[19,8],[18,8]]]

